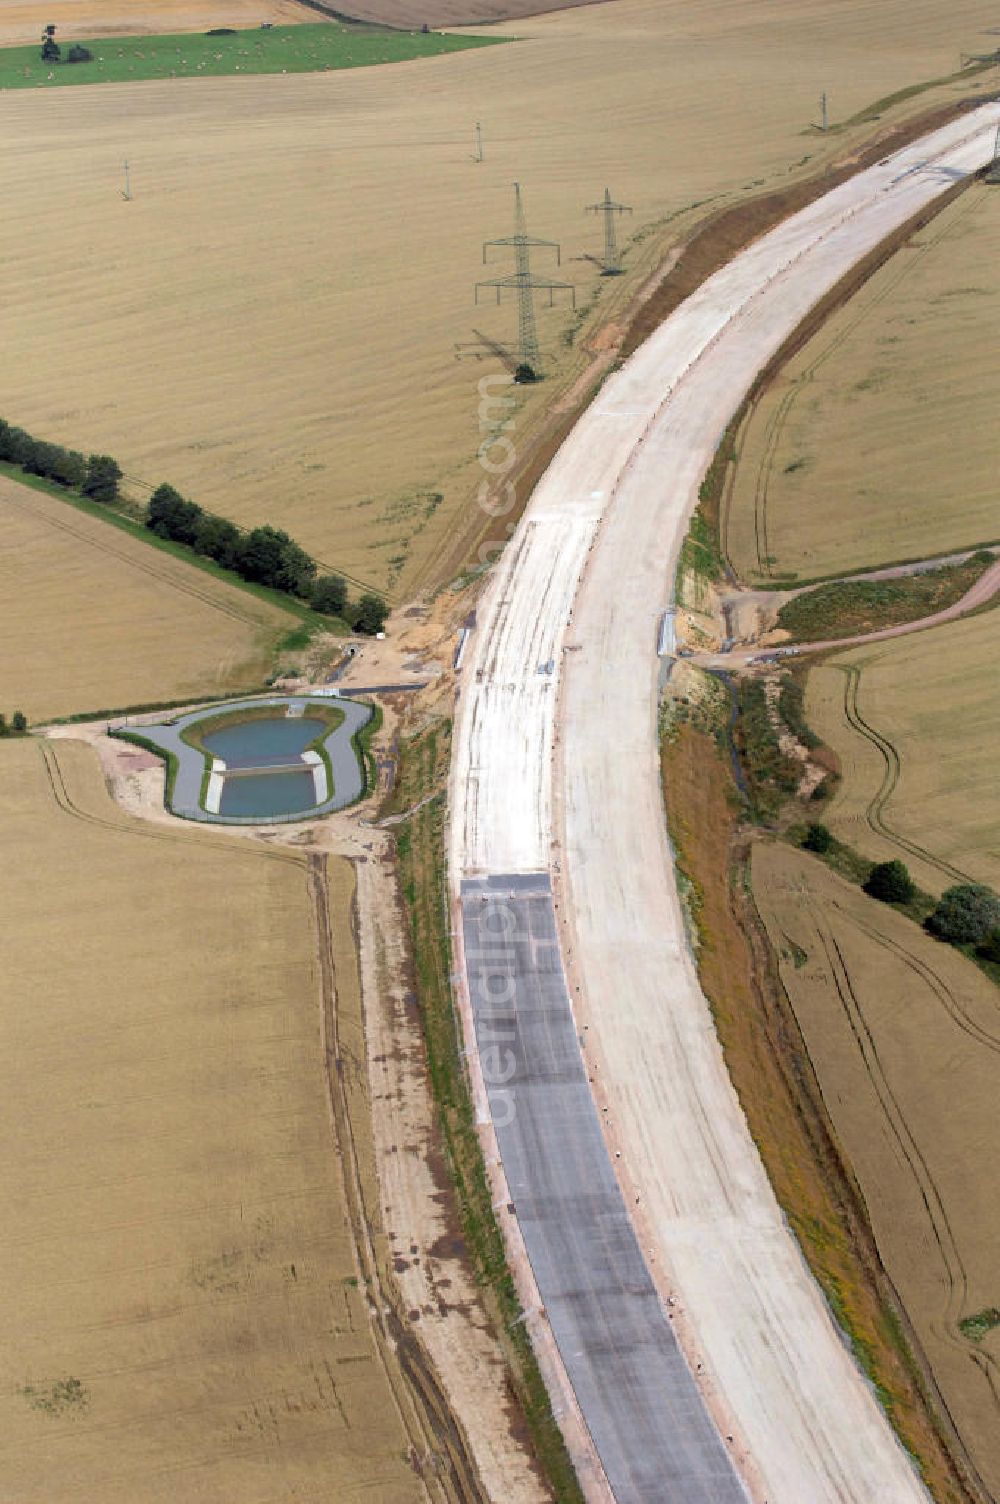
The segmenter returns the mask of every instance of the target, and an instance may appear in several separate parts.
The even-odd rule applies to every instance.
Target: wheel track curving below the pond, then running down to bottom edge
[[[42,763],[53,799],[74,820],[117,835],[150,841],[185,842],[185,832],[147,826],[137,818],[113,820],[80,805],[69,793],[59,761],[57,744],[39,741]],[[214,841],[217,850],[239,851],[230,839]],[[411,1441],[411,1462],[418,1472],[429,1499],[435,1504],[489,1504],[478,1478],[475,1460],[465,1435],[451,1414],[447,1396],[433,1372],[430,1360],[412,1330],[403,1321],[398,1301],[379,1265],[368,1226],[364,1187],[361,1181],[355,1122],[350,1116],[349,1092],[344,1081],[344,1056],[340,1050],[337,1024],[337,991],[334,951],[329,926],[326,859],[322,854],[298,854],[271,845],[247,848],[253,856],[290,863],[305,880],[316,932],[320,982],[320,1039],[328,1108],[337,1158],[341,1169],[344,1205],[350,1218],[352,1241],[368,1292],[371,1333],[380,1367],[395,1402],[400,1424]]]

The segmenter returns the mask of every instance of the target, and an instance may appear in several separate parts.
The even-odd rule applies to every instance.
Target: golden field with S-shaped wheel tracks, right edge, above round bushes
[[[806,719],[842,766],[835,835],[932,893],[1000,889],[1000,612],[839,653],[809,674]]]

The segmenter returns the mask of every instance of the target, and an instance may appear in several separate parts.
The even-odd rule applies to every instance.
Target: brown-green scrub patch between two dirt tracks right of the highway
[[[798,642],[823,642],[919,621],[953,606],[992,564],[989,549],[979,549],[961,564],[899,579],[830,581],[786,602],[777,626]]]

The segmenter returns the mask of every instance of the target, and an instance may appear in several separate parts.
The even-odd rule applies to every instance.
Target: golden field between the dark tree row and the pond
[[[0,711],[257,687],[298,618],[0,475]]]

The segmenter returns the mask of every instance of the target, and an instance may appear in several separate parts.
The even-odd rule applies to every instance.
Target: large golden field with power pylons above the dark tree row
[[[535,271],[577,286],[580,328],[614,322],[708,206],[871,134],[811,131],[823,89],[847,119],[947,74],[994,23],[986,0],[615,0],[391,68],[6,93],[0,415],[402,599],[487,478],[477,384],[502,364],[468,346],[516,329],[510,304],[474,304],[511,269],[501,251],[484,269],[481,242],[511,233],[514,179],[529,229],[564,245]],[[618,280],[583,259],[605,185],[635,206]],[[516,448],[585,365],[567,295],[540,305],[553,379],[519,390]]]

